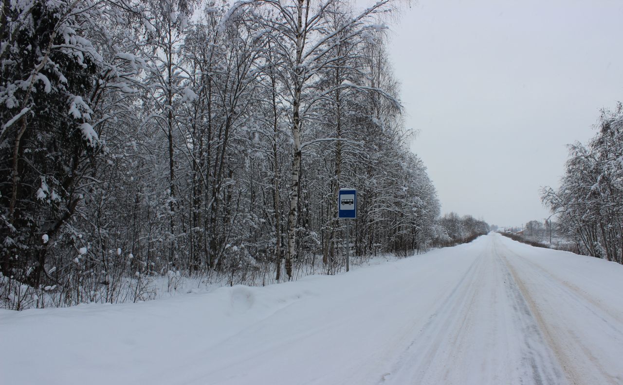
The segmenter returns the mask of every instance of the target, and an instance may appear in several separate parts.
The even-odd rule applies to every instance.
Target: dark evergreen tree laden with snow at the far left
[[[48,276],[50,248],[74,244],[71,220],[98,183],[102,131],[122,114],[115,102],[135,93],[128,85],[135,71],[108,50],[111,20],[132,9],[106,1],[4,3],[0,268],[7,276],[37,286]]]

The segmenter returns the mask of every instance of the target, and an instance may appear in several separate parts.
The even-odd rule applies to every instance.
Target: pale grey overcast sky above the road
[[[420,0],[391,24],[412,149],[442,211],[521,225],[549,214],[566,144],[623,101],[621,0]]]

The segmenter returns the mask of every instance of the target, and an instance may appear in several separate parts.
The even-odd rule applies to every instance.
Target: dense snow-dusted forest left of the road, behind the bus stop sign
[[[440,219],[409,150],[386,55],[396,7],[5,0],[3,307],[142,301],[155,278],[335,274],[346,247],[407,256],[487,232]]]

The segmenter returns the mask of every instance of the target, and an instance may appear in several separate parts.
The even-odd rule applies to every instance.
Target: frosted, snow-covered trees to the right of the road
[[[623,107],[603,109],[597,134],[569,145],[558,189],[542,199],[579,252],[623,263]]]

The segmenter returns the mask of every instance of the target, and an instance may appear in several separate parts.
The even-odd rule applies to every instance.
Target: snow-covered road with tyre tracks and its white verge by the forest
[[[0,383],[623,384],[623,266],[498,234],[340,276],[0,311]]]

